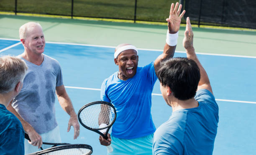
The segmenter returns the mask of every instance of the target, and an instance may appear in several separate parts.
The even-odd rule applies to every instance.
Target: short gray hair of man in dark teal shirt
[[[18,82],[23,82],[27,69],[26,63],[20,58],[0,57],[0,94],[12,91]]]

